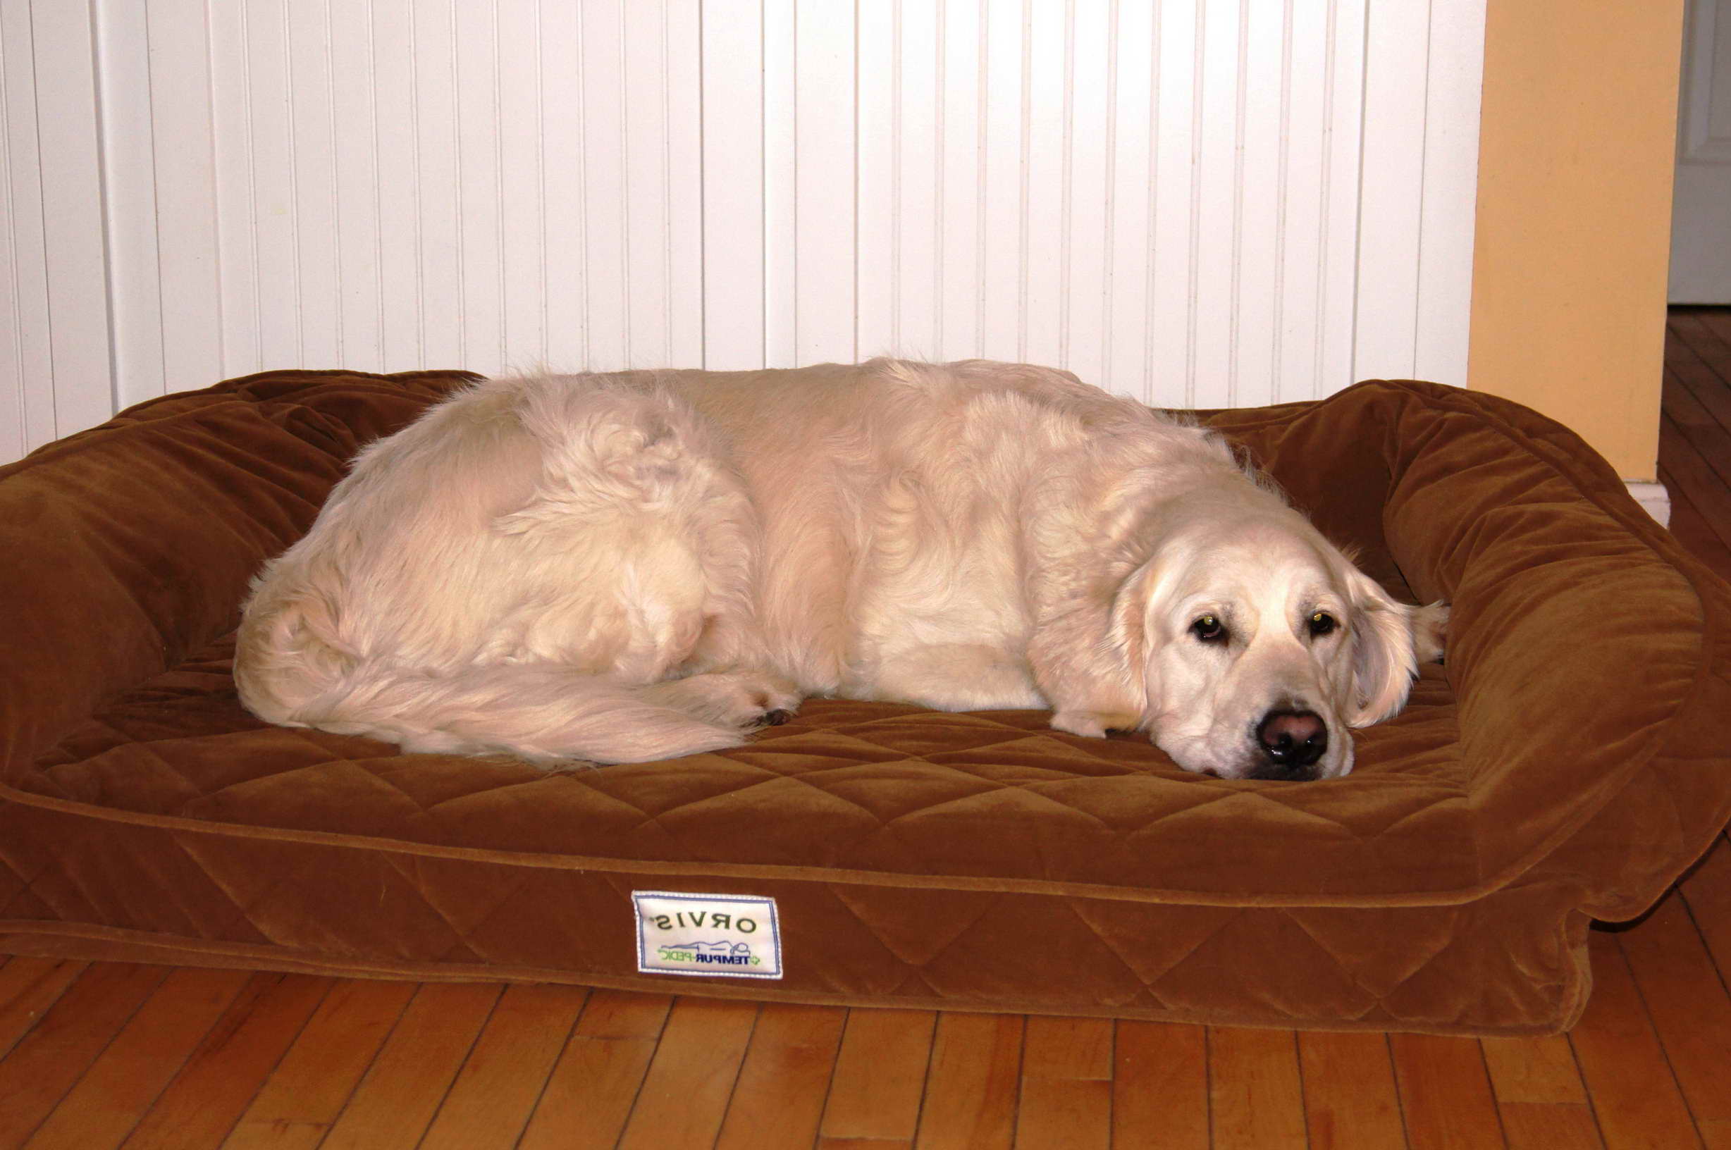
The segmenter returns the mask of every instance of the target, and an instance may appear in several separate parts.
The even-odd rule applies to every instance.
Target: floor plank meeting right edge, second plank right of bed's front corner
[[[1667,895],[1617,942],[1689,1112],[1731,1119],[1731,996],[1683,899]]]

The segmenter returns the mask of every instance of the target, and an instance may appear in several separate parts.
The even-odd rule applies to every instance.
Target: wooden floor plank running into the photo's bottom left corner
[[[0,1060],[0,1148],[24,1145],[166,975],[166,966],[92,963],[66,987]]]

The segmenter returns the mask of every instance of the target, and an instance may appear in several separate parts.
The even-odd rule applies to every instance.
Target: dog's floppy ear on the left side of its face
[[[1063,613],[1035,630],[1028,662],[1058,731],[1099,738],[1141,726],[1149,674],[1149,566],[1137,566],[1116,587],[1078,589]]]

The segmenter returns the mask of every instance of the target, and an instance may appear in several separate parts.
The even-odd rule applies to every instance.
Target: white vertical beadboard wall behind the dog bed
[[[0,0],[0,459],[270,367],[1464,383],[1483,0]]]

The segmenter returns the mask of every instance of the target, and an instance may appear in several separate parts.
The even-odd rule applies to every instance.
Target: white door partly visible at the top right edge
[[[1670,301],[1731,303],[1731,0],[1689,0],[1670,216]]]

